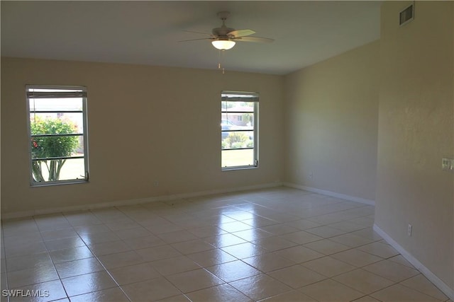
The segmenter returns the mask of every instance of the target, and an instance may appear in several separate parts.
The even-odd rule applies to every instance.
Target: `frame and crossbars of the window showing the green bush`
[[[50,90],[50,91],[33,91],[37,90]],[[32,91],[31,91],[32,90]],[[61,90],[61,91],[58,91]],[[37,98],[82,98],[82,110],[81,111],[65,111],[65,110],[31,110],[30,100]],[[28,153],[30,161],[30,184],[33,187],[37,186],[46,186],[46,185],[65,185],[73,183],[88,182],[89,180],[89,164],[88,164],[88,132],[87,132],[87,88],[84,86],[50,86],[50,85],[26,85],[26,102],[27,102],[27,129],[28,129]],[[65,156],[58,159],[74,159],[74,158],[83,158],[84,159],[84,175],[81,175],[81,178],[74,178],[70,180],[56,180],[56,181],[45,181],[37,182],[33,178],[33,168],[32,163],[36,161],[36,158],[33,158],[31,140],[33,137],[40,137],[40,135],[31,134],[31,115],[33,113],[65,113],[65,112],[79,112],[82,113],[82,134],[60,134],[59,136],[67,135],[76,135],[82,137],[83,146],[84,146],[84,155],[83,156]],[[45,135],[45,134],[44,134]],[[49,158],[50,159],[50,158]]]

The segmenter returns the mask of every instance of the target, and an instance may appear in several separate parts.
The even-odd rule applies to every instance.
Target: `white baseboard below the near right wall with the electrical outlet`
[[[419,260],[417,260],[413,255],[411,255],[409,252],[407,252],[404,248],[402,248],[399,243],[397,243],[394,239],[391,238],[387,233],[385,233],[379,226],[377,226],[374,223],[374,231],[377,232],[384,240],[389,243],[393,248],[397,250],[397,252],[400,252],[400,254],[413,265],[416,267],[416,269],[419,269],[419,271],[426,276],[427,279],[429,279],[435,286],[438,287],[441,291],[443,291],[443,294],[448,296],[451,300],[454,300],[454,289],[451,289],[445,282],[441,281],[440,278],[436,276],[436,274],[433,274],[430,269],[425,267]]]

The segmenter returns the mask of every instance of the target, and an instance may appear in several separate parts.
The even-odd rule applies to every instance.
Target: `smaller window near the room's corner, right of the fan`
[[[258,166],[258,93],[221,93],[221,167]]]

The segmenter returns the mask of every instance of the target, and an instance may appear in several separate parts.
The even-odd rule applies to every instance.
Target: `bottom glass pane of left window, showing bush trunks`
[[[46,182],[49,179],[85,179],[84,158],[69,158],[58,161],[32,161],[32,170],[33,180],[35,182]]]

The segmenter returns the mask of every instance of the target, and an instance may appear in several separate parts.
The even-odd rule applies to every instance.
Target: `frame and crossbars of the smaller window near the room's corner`
[[[244,149],[253,149],[253,164],[252,165],[234,165],[234,166],[222,166],[221,169],[225,170],[241,170],[241,169],[250,169],[250,168],[258,168],[258,121],[259,121],[259,94],[256,92],[245,92],[245,91],[222,91],[221,92],[221,121],[223,113],[242,113],[242,112],[231,112],[231,111],[224,111],[222,108],[222,102],[251,102],[254,103],[254,112],[253,112],[253,147],[250,148],[243,148],[243,149],[223,149],[221,146],[221,158],[222,158],[222,151],[223,150],[244,150]],[[244,113],[251,113],[250,111],[244,111]],[[250,129],[245,130],[223,130],[221,127],[221,141],[222,141],[222,134],[225,132],[237,132],[237,131],[245,131],[251,132]],[[222,160],[221,160],[222,161]]]

